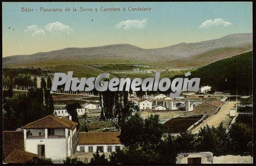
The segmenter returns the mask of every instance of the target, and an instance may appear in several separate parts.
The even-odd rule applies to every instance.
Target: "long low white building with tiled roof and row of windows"
[[[111,153],[122,148],[119,132],[79,133],[77,151],[85,153]]]

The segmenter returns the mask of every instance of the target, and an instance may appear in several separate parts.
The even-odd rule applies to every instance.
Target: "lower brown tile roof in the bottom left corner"
[[[4,159],[4,162],[13,164],[26,164],[36,156],[37,154],[34,153],[29,153],[20,149],[13,149],[13,151],[11,151],[11,153]]]

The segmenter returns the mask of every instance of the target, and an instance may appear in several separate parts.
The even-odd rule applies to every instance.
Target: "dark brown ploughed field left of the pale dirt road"
[[[200,117],[191,117],[191,118],[173,118],[169,121],[167,121],[164,125],[167,129],[168,133],[180,133],[180,132],[185,132],[187,129],[195,124],[200,120]]]

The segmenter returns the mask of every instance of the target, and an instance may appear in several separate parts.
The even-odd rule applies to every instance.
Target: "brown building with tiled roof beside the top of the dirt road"
[[[221,101],[213,100],[206,101],[194,107],[194,114],[211,115],[219,111],[224,103]]]

